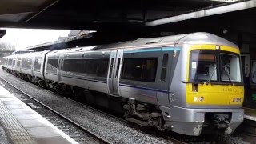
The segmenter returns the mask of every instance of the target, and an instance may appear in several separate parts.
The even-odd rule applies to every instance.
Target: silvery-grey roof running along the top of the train
[[[224,38],[218,37],[217,35],[205,33],[205,32],[198,32],[198,33],[179,34],[179,35],[172,35],[172,36],[165,36],[165,37],[158,37],[158,38],[138,38],[137,40],[133,40],[133,41],[118,42],[118,43],[102,45],[102,46],[83,46],[83,47],[76,47],[76,48],[63,49],[63,50],[50,50],[50,54],[54,54],[54,53],[59,54],[63,52],[75,53],[75,52],[83,52],[88,50],[89,51],[90,50],[122,50],[126,48],[146,48],[146,47],[150,48],[150,47],[156,47],[156,46],[174,46],[174,45],[181,45],[181,44],[191,44],[191,45],[192,44],[193,45],[214,44],[214,45],[220,45],[220,46],[231,46],[238,49],[237,45],[227,41]],[[44,53],[44,52],[41,51],[41,52],[25,53],[25,54],[21,54],[21,56],[26,54],[38,54],[38,53]]]

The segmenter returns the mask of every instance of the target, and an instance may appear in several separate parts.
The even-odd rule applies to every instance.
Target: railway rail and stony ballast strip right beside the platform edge
[[[25,102],[26,105],[30,106],[39,114],[42,114],[47,120],[52,122],[54,126],[57,126],[60,130],[69,135],[71,138],[74,138],[74,140],[77,142],[87,143],[90,141],[93,143],[110,143],[105,138],[102,138],[98,134],[94,134],[94,132],[87,130],[84,126],[79,125],[77,122],[74,122],[70,118],[66,118],[63,114],[58,113],[58,111],[53,110],[42,102],[39,102],[37,99],[33,98],[29,94],[26,94],[12,83],[6,81],[6,79],[2,77],[0,78],[2,81],[6,82],[9,86],[13,87],[15,90],[18,90],[18,92],[22,94],[22,97],[20,98],[22,102]]]

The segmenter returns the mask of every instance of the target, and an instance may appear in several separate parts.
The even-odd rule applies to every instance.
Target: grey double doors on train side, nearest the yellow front
[[[107,78],[107,85],[110,94],[119,95],[119,78],[122,67],[123,50],[114,50],[110,54],[110,66]]]

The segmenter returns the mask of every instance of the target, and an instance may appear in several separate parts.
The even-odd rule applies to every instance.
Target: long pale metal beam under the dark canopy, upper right
[[[246,2],[234,3],[226,6],[219,6],[219,7],[215,7],[207,10],[198,10],[188,14],[180,14],[177,16],[162,18],[162,19],[146,22],[145,25],[158,26],[158,25],[163,25],[171,22],[180,22],[188,19],[202,18],[202,17],[207,17],[211,15],[216,15],[216,14],[230,13],[233,11],[246,10],[254,7],[256,7],[256,0],[250,0]]]

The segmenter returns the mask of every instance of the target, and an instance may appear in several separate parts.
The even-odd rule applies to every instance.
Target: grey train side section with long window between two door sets
[[[70,53],[63,58],[62,83],[108,93],[106,76],[110,51]]]

